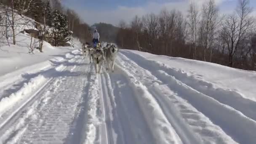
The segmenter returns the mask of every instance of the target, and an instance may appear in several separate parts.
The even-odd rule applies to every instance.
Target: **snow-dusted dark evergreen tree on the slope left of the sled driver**
[[[53,12],[53,39],[54,45],[64,45],[70,40],[71,32],[68,30],[67,18],[61,11]]]

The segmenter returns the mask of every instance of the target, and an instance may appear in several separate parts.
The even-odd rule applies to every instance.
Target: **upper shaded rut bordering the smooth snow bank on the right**
[[[256,109],[256,101],[246,99],[236,91],[225,90],[223,88],[214,88],[212,83],[198,80],[193,75],[188,76],[188,74],[184,73],[182,70],[166,67],[165,64],[148,60],[136,53],[131,53],[128,51],[123,51],[122,53],[124,53],[129,58],[133,58],[133,61],[137,62],[137,64],[141,63],[144,67],[148,67],[151,72],[163,70],[168,75],[174,76],[177,80],[188,85],[189,87],[200,91],[207,96],[211,96],[213,99],[216,99],[222,104],[233,107],[237,111],[242,112],[245,116],[256,121],[256,112],[254,111],[254,109]]]

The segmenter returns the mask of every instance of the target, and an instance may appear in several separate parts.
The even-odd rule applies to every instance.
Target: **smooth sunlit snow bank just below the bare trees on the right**
[[[163,69],[190,86],[192,86],[192,83],[194,83],[194,86],[199,84],[210,91],[211,89],[219,91],[219,95],[232,96],[235,99],[243,97],[256,101],[256,72],[205,61],[157,56],[139,51],[121,50],[120,52],[139,62],[139,64],[151,65],[155,69]]]

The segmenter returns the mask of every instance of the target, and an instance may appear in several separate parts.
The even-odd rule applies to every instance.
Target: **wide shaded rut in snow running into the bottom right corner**
[[[120,56],[123,59],[131,61],[128,58],[125,58],[126,56],[123,54],[120,54]],[[138,63],[134,64],[139,64],[139,61],[137,62]],[[145,64],[145,62],[143,63]],[[182,99],[189,101],[193,107],[210,118],[214,124],[219,125],[222,130],[235,141],[245,144],[256,141],[256,135],[253,132],[256,129],[256,122],[251,118],[246,117],[243,113],[228,105],[216,101],[210,96],[196,91],[162,70],[150,71],[150,68],[147,68],[147,64],[140,66],[141,69],[146,69],[147,72],[152,73],[152,75],[155,75],[157,79],[168,85],[168,87],[178,93],[178,96]]]

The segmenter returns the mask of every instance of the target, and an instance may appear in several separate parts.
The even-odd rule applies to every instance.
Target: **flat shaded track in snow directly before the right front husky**
[[[117,67],[114,73],[107,73],[105,77],[111,90],[110,96],[115,103],[118,120],[122,125],[125,143],[153,144],[153,134],[136,102],[137,95],[133,93],[133,89],[128,85],[128,80],[122,71]],[[121,143],[117,142],[117,144]]]

